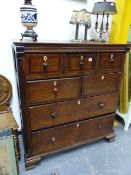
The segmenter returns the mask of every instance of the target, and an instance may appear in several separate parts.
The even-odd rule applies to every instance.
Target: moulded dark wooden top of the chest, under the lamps
[[[38,42],[13,42],[13,48],[17,53],[28,52],[91,52],[91,51],[127,51],[126,44],[95,43],[87,41],[38,41]],[[52,49],[50,49],[52,48]]]

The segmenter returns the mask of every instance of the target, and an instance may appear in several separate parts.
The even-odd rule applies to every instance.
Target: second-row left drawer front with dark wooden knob
[[[28,88],[28,104],[42,104],[80,96],[80,78],[30,81]]]

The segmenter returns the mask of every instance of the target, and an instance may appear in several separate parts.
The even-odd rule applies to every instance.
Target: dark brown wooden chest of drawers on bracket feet
[[[114,139],[126,45],[13,42],[26,167],[42,156]]]

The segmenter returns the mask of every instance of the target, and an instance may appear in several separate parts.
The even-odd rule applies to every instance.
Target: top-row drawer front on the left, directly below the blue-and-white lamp
[[[53,77],[62,74],[62,54],[27,54],[28,76]]]

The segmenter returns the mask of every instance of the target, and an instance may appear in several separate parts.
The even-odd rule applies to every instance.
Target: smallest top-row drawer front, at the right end
[[[100,72],[118,72],[123,69],[124,55],[122,53],[100,53]]]

